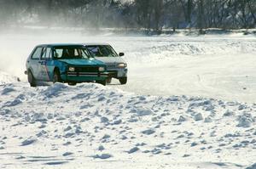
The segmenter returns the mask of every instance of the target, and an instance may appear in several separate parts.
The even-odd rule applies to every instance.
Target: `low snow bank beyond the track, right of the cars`
[[[138,38],[141,43],[126,47],[129,62],[159,63],[184,56],[205,57],[221,54],[255,54],[256,42],[252,38],[230,37],[154,37]],[[147,42],[148,40],[148,42]],[[119,45],[119,44],[117,44]],[[123,47],[124,48],[124,47]]]

